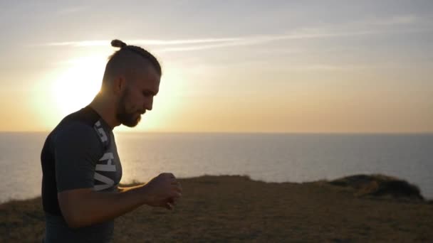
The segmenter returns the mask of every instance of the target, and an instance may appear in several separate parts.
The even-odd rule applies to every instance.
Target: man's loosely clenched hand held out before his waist
[[[182,196],[182,187],[172,173],[161,173],[140,188],[147,195],[146,204],[172,210]]]

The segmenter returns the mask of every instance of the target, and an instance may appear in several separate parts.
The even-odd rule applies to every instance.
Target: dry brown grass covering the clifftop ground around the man
[[[358,198],[329,183],[242,176],[181,179],[173,211],[143,206],[115,221],[115,242],[432,242],[433,204]],[[40,198],[0,205],[0,242],[38,242]]]

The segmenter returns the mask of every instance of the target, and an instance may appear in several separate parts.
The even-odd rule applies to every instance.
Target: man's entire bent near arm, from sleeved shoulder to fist
[[[74,123],[59,131],[54,154],[58,204],[70,227],[83,227],[111,220],[147,204],[172,208],[170,202],[182,189],[171,173],[162,173],[146,185],[124,193],[96,192],[96,161],[103,147],[93,127]]]

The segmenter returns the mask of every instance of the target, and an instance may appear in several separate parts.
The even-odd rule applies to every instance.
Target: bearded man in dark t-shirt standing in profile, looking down
[[[161,67],[146,50],[111,43],[95,99],[48,135],[41,153],[45,242],[110,242],[115,217],[140,205],[172,209],[182,188],[172,173],[145,185],[118,188],[122,177],[113,129],[136,126],[160,87]],[[76,94],[80,95],[80,94]]]

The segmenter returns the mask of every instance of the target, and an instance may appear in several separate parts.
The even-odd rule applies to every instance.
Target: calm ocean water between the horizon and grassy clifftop
[[[0,133],[0,202],[41,195],[47,133]],[[116,133],[122,183],[162,172],[177,178],[249,175],[305,182],[358,173],[394,175],[433,199],[433,134]]]

